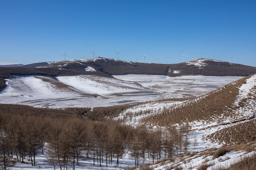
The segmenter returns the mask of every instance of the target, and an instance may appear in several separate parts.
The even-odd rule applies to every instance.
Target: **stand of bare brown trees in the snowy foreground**
[[[0,111],[0,166],[4,170],[16,161],[29,161],[36,166],[38,154],[45,154],[47,163],[60,170],[75,170],[86,159],[93,160],[95,166],[119,166],[128,151],[138,167],[146,159],[154,163],[163,157],[187,153],[190,143],[186,124],[180,129],[148,130],[111,119],[95,121],[82,117],[76,109],[77,113],[51,113],[21,106],[33,111],[13,112],[11,107],[4,106],[4,111]]]

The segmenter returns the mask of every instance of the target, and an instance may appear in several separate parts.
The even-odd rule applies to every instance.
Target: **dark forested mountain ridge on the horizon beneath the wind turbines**
[[[74,76],[92,74],[111,76],[154,74],[167,76],[248,76],[254,73],[256,73],[256,67],[214,59],[197,59],[178,64],[155,64],[98,57],[95,59],[62,60],[0,67],[0,91],[5,87],[4,78],[8,78],[10,75]]]

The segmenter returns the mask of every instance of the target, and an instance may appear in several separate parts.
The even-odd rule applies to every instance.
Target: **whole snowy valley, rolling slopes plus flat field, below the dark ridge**
[[[66,108],[132,104],[164,98],[198,96],[240,76],[123,75],[12,76],[0,93],[0,103]]]

